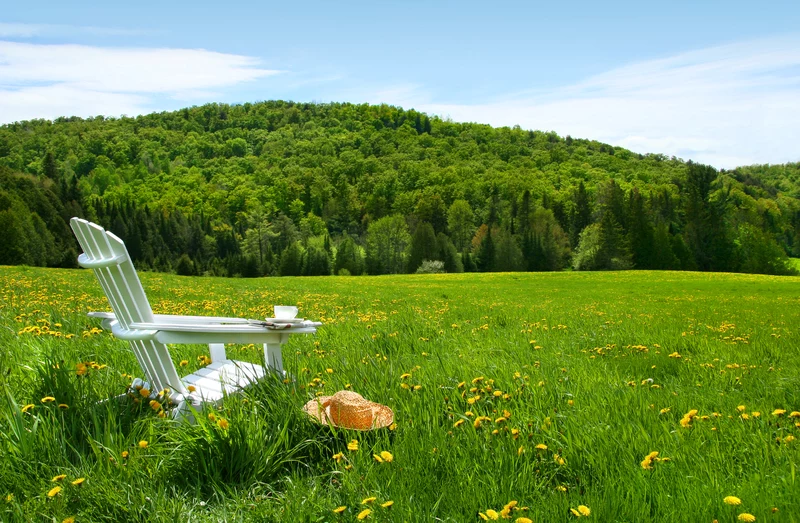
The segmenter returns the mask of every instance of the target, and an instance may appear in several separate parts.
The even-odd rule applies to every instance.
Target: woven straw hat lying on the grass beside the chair
[[[392,409],[364,399],[361,394],[340,390],[333,396],[320,396],[303,410],[323,425],[343,429],[370,430],[388,427],[394,421]]]

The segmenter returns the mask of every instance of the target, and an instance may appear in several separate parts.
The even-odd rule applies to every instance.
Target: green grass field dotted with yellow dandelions
[[[325,326],[284,347],[296,381],[179,424],[100,402],[141,371],[85,316],[107,310],[89,271],[0,268],[0,520],[800,521],[800,278],[142,281],[157,313],[297,304]],[[172,347],[183,373],[204,354]],[[390,406],[392,430],[300,410],[344,388]]]

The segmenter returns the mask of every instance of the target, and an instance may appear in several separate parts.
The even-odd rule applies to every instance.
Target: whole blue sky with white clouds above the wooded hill
[[[0,10],[0,124],[387,103],[717,168],[800,161],[796,0],[122,4]]]

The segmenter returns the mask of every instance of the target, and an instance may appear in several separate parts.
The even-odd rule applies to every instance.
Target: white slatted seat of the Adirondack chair
[[[222,360],[212,363],[183,378],[187,386],[193,385],[193,396],[203,402],[221,401],[225,394],[233,394],[263,378],[264,367],[245,361]]]

